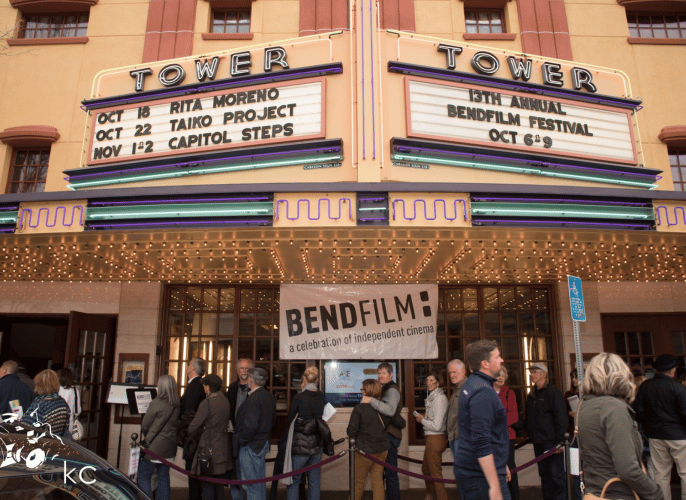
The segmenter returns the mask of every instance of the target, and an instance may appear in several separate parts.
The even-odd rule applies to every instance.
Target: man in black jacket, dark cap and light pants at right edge
[[[641,384],[636,395],[636,419],[643,425],[650,444],[654,479],[671,500],[672,463],[681,476],[682,498],[686,495],[686,387],[674,380],[679,360],[662,354],[653,363],[655,376]]]

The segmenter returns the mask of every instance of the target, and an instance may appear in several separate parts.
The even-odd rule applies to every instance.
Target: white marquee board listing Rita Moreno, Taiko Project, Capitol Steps
[[[325,136],[326,80],[272,83],[93,112],[88,165]]]

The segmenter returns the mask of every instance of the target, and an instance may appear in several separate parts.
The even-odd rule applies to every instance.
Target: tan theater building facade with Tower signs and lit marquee
[[[568,388],[567,275],[584,359],[686,355],[683,2],[5,0],[0,19],[0,357],[73,366],[111,461],[139,417],[110,382],[183,387],[194,356],[226,385],[255,359],[285,415],[330,358],[280,351],[284,285],[436,287],[438,355],[394,358],[409,414],[479,338],[520,409],[530,363]],[[421,426],[404,439],[419,453]]]

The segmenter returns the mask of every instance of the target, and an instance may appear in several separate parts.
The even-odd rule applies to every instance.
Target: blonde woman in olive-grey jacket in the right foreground
[[[583,464],[585,493],[605,498],[664,500],[660,487],[643,471],[643,443],[629,405],[634,399],[633,375],[616,354],[594,356],[581,384],[583,399],[578,409],[579,454]]]

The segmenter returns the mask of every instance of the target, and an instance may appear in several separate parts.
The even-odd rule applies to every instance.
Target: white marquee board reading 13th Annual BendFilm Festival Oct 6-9
[[[629,110],[409,76],[405,95],[408,137],[637,163]]]

